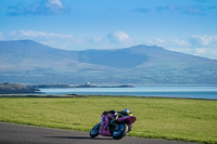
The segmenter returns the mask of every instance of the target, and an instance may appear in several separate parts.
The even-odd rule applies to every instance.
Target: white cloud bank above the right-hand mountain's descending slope
[[[151,39],[143,43],[165,49],[217,60],[217,35],[192,35],[189,38]]]

